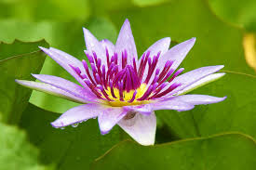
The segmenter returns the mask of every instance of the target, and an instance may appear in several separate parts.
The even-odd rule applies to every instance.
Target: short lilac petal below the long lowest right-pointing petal
[[[151,106],[154,111],[158,111],[158,110],[189,111],[194,108],[193,104],[180,101],[178,99],[175,99],[175,97],[156,101],[155,103],[151,103]]]

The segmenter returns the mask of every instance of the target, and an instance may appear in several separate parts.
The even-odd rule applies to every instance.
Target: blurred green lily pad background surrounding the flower
[[[32,93],[14,79],[41,72],[74,81],[37,46],[85,59],[83,27],[115,43],[127,18],[139,56],[160,38],[176,45],[196,37],[185,71],[224,64],[227,75],[193,93],[227,99],[157,111],[151,147],[123,141],[128,136],[117,126],[101,136],[97,120],[52,128],[77,104]],[[255,33],[255,0],[0,0],[0,169],[255,169]]]

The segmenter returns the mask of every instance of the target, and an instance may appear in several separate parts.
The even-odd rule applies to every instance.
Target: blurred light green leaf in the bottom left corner
[[[27,141],[24,131],[3,123],[0,123],[0,129],[0,169],[52,169],[38,163],[38,150]]]

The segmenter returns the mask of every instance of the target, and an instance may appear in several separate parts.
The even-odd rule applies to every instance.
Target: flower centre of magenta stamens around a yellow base
[[[175,72],[171,68],[174,61],[168,60],[162,70],[156,68],[160,52],[153,57],[150,51],[144,53],[138,67],[135,58],[128,64],[127,50],[122,52],[120,63],[117,53],[110,56],[107,48],[105,64],[101,64],[95,52],[86,55],[91,70],[85,60],[82,60],[84,68],[70,66],[98,98],[114,107],[154,102],[155,98],[161,98],[181,85],[172,83],[183,71],[180,69]]]

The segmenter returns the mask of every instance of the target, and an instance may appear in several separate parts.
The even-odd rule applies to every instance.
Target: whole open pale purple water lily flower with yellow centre
[[[75,125],[98,117],[101,134],[107,134],[118,124],[141,145],[153,145],[154,111],[189,111],[195,105],[217,103],[225,98],[184,95],[224,75],[218,72],[222,65],[186,73],[182,73],[183,68],[177,69],[194,46],[195,38],[170,49],[170,38],[160,39],[138,59],[128,20],[125,20],[115,45],[108,40],[98,41],[85,28],[84,34],[88,62],[53,47],[40,47],[80,85],[45,74],[33,74],[40,83],[16,80],[20,85],[83,103],[64,112],[51,123],[54,127]]]

